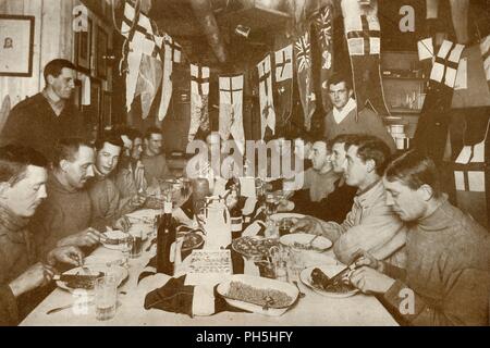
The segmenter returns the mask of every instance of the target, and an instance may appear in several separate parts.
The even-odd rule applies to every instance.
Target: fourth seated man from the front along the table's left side
[[[123,142],[127,144],[128,154],[122,156],[114,184],[121,198],[133,197],[138,192],[146,192],[148,184],[145,179],[145,166],[140,158],[143,152],[143,136],[139,130],[126,128],[121,133]]]

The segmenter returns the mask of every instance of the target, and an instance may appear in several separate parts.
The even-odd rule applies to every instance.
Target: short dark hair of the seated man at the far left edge
[[[0,148],[0,182],[15,185],[25,177],[28,165],[48,167],[42,153],[21,145],[7,145]]]

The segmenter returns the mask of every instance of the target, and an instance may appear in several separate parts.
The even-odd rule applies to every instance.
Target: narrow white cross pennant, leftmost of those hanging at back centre
[[[191,64],[191,125],[188,141],[197,130],[209,130],[209,67]]]

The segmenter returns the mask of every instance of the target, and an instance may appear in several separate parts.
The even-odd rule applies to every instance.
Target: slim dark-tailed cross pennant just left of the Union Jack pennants
[[[275,51],[275,125],[290,123],[293,108],[293,46]]]

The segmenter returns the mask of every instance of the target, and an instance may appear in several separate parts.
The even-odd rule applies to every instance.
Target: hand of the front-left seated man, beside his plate
[[[12,294],[15,297],[30,291],[37,287],[41,287],[49,282],[51,282],[52,277],[57,271],[44,263],[36,263],[27,269],[24,273],[13,279],[9,286],[12,290]]]

